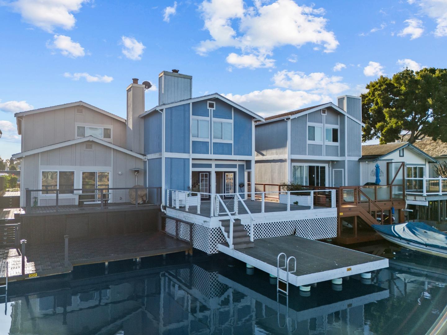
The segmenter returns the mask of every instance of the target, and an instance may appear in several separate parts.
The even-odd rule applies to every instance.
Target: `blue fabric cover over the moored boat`
[[[447,234],[423,222],[407,222],[396,225],[372,225],[381,234],[425,247],[447,250]]]

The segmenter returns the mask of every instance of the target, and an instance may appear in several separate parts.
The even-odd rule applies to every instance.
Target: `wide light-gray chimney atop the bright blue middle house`
[[[192,97],[191,75],[182,75],[178,70],[163,71],[158,75],[158,104],[190,99]]]

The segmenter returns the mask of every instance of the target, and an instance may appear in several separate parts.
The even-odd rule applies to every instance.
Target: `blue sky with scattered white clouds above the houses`
[[[0,155],[14,113],[83,100],[126,114],[131,78],[193,75],[263,116],[358,95],[379,75],[446,67],[447,0],[0,0]]]

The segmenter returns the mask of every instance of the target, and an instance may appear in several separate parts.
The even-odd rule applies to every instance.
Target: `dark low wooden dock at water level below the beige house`
[[[69,239],[69,264],[64,264],[64,242],[30,244],[25,250],[25,274],[21,273],[21,254],[15,247],[0,247],[0,284],[5,281],[6,262],[9,280],[70,272],[73,266],[127,260],[190,250],[189,243],[162,232]],[[31,276],[33,277],[33,276]]]

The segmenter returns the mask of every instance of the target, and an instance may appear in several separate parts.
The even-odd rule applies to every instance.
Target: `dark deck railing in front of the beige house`
[[[160,187],[25,188],[25,212],[116,208],[118,205],[160,205]]]

